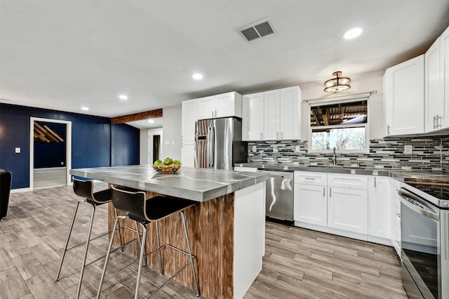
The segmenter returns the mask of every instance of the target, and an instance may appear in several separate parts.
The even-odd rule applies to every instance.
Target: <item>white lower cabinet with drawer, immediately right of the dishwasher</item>
[[[293,220],[327,226],[327,173],[294,172]]]

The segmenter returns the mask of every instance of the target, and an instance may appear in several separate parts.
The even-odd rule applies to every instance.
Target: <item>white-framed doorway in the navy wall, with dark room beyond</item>
[[[30,117],[29,187],[70,184],[72,122]]]

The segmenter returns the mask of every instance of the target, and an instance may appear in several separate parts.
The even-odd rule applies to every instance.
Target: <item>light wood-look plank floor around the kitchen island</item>
[[[98,190],[107,187],[100,183]],[[83,248],[66,255],[61,279],[54,281],[59,259],[79,199],[71,186],[13,193],[8,215],[0,221],[0,298],[74,298]],[[86,235],[91,208],[81,204],[72,233],[73,243]],[[107,207],[99,206],[93,234],[107,227]],[[105,253],[107,239],[91,242],[88,260]],[[115,253],[111,271],[131,258]],[[104,260],[86,267],[81,298],[95,298]],[[102,298],[133,298],[135,270],[107,281]],[[163,284],[155,270],[142,272],[140,297]],[[196,298],[176,281],[156,298]],[[394,251],[387,246],[336,237],[297,227],[267,222],[263,270],[245,298],[407,298]]]

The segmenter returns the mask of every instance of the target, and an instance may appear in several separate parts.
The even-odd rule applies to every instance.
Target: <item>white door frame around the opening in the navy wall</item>
[[[70,185],[70,169],[72,168],[72,121],[61,121],[59,119],[42,119],[40,117],[29,117],[29,189],[34,190],[34,121],[45,121],[48,123],[65,124],[65,185]]]

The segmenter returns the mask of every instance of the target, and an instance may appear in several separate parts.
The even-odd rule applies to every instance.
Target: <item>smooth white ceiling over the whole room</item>
[[[275,34],[236,32],[265,18]],[[117,117],[351,77],[424,53],[448,25],[448,0],[1,0],[0,102]]]

